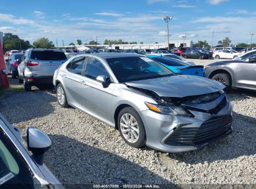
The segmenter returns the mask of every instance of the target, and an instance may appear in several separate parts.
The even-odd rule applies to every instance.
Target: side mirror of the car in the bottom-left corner
[[[27,149],[32,152],[32,158],[37,164],[44,162],[44,153],[50,149],[52,142],[45,132],[35,127],[27,129]]]

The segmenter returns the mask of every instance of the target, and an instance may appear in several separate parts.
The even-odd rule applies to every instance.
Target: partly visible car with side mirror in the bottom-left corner
[[[49,137],[35,127],[27,129],[27,143],[16,126],[0,114],[0,188],[64,188],[44,165]]]

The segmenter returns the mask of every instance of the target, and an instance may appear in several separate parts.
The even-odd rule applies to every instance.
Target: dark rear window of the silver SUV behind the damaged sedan
[[[53,50],[32,51],[31,58],[35,60],[66,60],[64,52],[55,52]]]

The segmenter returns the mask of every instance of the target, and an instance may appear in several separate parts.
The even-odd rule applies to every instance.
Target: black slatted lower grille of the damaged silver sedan
[[[232,116],[220,116],[209,119],[200,127],[177,127],[164,143],[167,145],[201,147],[217,141],[232,132]]]

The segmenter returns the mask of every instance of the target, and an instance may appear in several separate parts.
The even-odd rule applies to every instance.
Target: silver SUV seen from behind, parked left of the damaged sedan
[[[18,67],[19,83],[24,83],[25,91],[31,91],[33,85],[52,83],[54,71],[66,60],[59,49],[28,49]]]

